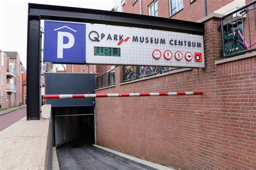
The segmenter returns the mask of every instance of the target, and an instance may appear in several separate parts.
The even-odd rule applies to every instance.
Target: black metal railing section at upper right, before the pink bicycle
[[[221,17],[221,35],[225,58],[256,51],[256,1]]]

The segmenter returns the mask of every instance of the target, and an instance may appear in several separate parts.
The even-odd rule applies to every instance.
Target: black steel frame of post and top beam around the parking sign
[[[93,24],[140,27],[191,34],[204,34],[204,24],[133,13],[32,4],[28,6],[27,119],[40,119],[41,37],[40,21],[60,20]]]

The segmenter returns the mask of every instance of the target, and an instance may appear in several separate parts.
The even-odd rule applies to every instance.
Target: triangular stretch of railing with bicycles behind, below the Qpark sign
[[[136,79],[143,79],[157,74],[169,72],[178,69],[177,67],[150,67],[150,66],[124,66],[123,82]]]

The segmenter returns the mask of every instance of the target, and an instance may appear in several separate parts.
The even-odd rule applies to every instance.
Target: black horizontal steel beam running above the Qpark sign
[[[134,13],[73,8],[68,6],[29,3],[29,15],[38,15],[41,19],[46,20],[142,27],[146,29],[176,31],[200,35],[203,35],[204,33],[204,24],[201,23],[138,15]]]

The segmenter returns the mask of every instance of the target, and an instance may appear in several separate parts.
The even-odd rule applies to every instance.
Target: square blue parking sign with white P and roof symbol
[[[85,24],[44,22],[44,62],[85,63]]]

